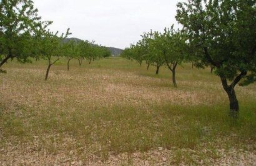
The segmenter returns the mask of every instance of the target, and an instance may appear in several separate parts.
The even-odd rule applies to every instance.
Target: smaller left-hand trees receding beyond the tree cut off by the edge
[[[48,67],[46,71],[45,80],[47,81],[49,70],[51,66],[54,65],[61,57],[67,59],[67,71],[69,71],[69,63],[72,59],[77,59],[79,66],[82,65],[82,62],[86,59],[91,64],[92,61],[102,59],[105,57],[111,56],[111,51],[107,47],[102,47],[94,42],[89,41],[76,41],[76,40],[67,40],[66,36],[69,35],[69,29],[66,32],[66,35],[61,37],[57,36],[57,33],[50,36],[44,36],[41,40],[41,49],[39,51],[39,59],[47,60]]]

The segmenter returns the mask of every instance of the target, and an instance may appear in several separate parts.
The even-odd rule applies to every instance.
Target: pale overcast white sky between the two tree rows
[[[185,0],[34,0],[51,31],[66,32],[102,46],[124,49],[143,32],[176,24],[176,4]]]

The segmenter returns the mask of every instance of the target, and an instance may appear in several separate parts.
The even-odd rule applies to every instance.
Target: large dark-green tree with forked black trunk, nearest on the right
[[[237,117],[235,85],[255,81],[256,4],[254,0],[189,0],[179,3],[177,21],[199,49],[200,64],[215,67]],[[243,82],[241,82],[243,80]]]

